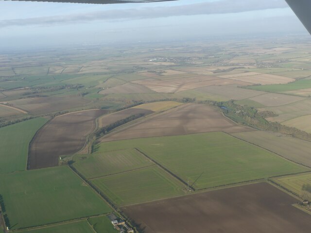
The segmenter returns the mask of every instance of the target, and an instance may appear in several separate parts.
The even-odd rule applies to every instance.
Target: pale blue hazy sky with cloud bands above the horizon
[[[285,0],[75,4],[0,0],[0,50],[307,33]]]

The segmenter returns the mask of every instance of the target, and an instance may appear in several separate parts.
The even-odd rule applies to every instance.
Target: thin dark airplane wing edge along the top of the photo
[[[17,0],[13,0],[17,1]],[[174,0],[21,0],[21,1],[48,1],[48,2],[69,2],[69,3],[89,3],[89,4],[111,4],[111,3],[141,3]]]

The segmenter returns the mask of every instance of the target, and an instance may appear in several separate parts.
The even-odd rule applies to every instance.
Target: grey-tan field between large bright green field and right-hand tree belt
[[[231,135],[275,152],[298,164],[311,167],[311,142],[266,131],[231,133]]]

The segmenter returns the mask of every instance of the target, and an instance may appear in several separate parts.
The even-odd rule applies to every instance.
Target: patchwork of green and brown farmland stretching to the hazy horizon
[[[293,204],[311,200],[311,142],[245,123],[258,109],[311,133],[311,48],[294,41],[0,54],[6,226],[117,233],[114,212],[144,233],[308,232]],[[229,115],[245,125],[225,101],[252,107]]]

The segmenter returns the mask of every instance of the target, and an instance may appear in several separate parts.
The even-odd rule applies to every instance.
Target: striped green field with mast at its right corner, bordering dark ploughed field
[[[157,166],[92,180],[117,205],[158,200],[184,194],[182,184]]]

